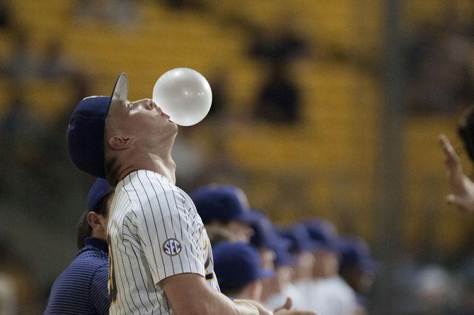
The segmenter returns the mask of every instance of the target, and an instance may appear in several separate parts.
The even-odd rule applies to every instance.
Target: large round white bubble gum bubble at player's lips
[[[172,69],[156,81],[153,101],[177,125],[195,125],[209,113],[211,86],[193,69]]]

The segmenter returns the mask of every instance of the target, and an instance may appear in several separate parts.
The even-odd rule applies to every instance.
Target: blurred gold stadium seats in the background
[[[296,127],[236,122],[229,127],[225,147],[248,174],[241,184],[250,202],[271,212],[274,219],[285,222],[318,214],[334,219],[346,231],[374,238],[382,86],[367,69],[347,60],[328,59],[328,55],[339,50],[349,57],[380,58],[381,2],[222,0],[209,1],[215,6],[213,13],[200,13],[168,11],[156,1],[137,1],[139,18],[129,27],[78,21],[72,0],[50,0],[47,5],[16,0],[13,4],[16,16],[32,34],[33,49],[41,52],[51,38],[59,38],[67,58],[91,75],[94,93],[110,93],[120,71],[129,74],[130,98],[134,99],[151,97],[154,82],[168,69],[191,67],[208,76],[219,68],[229,73],[229,110],[238,117],[250,117],[266,67],[248,57],[245,33],[224,27],[222,21],[229,13],[240,13],[271,29],[277,18],[298,17],[315,50],[294,76],[303,95],[304,122]],[[460,11],[472,8],[468,0],[457,2]],[[440,18],[443,4],[441,0],[407,1],[408,27],[427,16]],[[0,57],[4,57],[8,36],[0,33],[0,41],[6,43],[0,45]],[[4,84],[0,81],[2,88]],[[54,117],[68,98],[64,84],[33,82],[28,91],[45,118]],[[400,198],[407,206],[400,215],[405,218],[408,239],[424,233],[422,219],[433,211],[427,210],[427,198],[438,198],[429,205],[444,210],[442,195],[447,188],[437,134],[448,132],[454,137],[455,122],[453,117],[410,118],[406,127],[400,126],[406,139],[406,191]],[[198,138],[209,139],[203,130],[197,130],[202,132]],[[212,147],[209,141],[200,144],[204,149]],[[427,183],[430,189],[420,188]],[[439,236],[439,244],[455,244],[466,224],[452,219],[452,212],[436,213],[443,236],[449,229],[458,231],[447,239]]]

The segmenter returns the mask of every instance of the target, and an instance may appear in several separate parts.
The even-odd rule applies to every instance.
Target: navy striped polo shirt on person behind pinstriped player
[[[45,315],[108,314],[108,246],[91,237],[85,244],[54,281]]]

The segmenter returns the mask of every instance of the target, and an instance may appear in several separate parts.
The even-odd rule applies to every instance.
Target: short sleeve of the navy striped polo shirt
[[[92,278],[91,304],[98,314],[109,314],[110,297],[108,293],[108,264],[101,265]]]

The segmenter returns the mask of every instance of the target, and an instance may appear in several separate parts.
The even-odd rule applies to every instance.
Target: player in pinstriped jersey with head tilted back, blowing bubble
[[[153,101],[127,101],[127,91],[120,74],[111,97],[84,98],[67,132],[74,164],[115,186],[110,314],[272,314],[219,292],[202,220],[175,186],[178,127]]]

